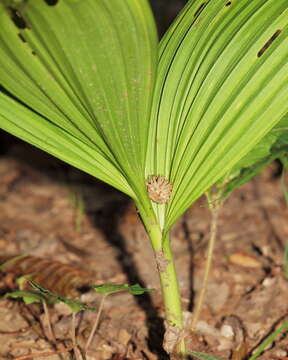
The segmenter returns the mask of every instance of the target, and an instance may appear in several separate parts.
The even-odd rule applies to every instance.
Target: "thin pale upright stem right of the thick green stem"
[[[208,243],[208,249],[207,249],[207,259],[205,263],[205,272],[204,272],[204,279],[202,283],[202,288],[200,290],[200,294],[195,306],[195,310],[193,312],[193,318],[191,321],[191,330],[194,331],[199,319],[199,316],[201,314],[204,298],[207,291],[208,286],[208,280],[212,265],[212,258],[213,258],[213,251],[215,246],[215,240],[217,236],[217,227],[218,227],[218,217],[219,217],[219,207],[216,205],[215,207],[210,207],[211,210],[211,225],[210,225],[210,239]]]

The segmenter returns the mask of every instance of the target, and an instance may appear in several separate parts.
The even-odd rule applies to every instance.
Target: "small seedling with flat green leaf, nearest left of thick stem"
[[[143,288],[139,284],[135,284],[135,285],[104,284],[104,285],[94,285],[94,286],[91,286],[91,288],[93,288],[97,293],[102,294],[103,296],[102,296],[102,299],[101,299],[101,302],[99,305],[99,310],[98,310],[94,325],[92,327],[91,333],[90,333],[88,340],[86,342],[86,345],[85,345],[86,351],[89,349],[91,342],[93,340],[93,337],[95,335],[95,332],[98,328],[100,316],[102,314],[104,303],[105,303],[106,297],[108,295],[115,294],[115,293],[118,293],[121,291],[128,291],[132,295],[142,295],[147,292],[155,291],[155,289]]]

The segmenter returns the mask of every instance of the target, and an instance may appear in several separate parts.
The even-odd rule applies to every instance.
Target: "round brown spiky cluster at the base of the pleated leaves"
[[[149,198],[158,204],[167,204],[172,192],[172,184],[161,175],[153,175],[146,180]]]

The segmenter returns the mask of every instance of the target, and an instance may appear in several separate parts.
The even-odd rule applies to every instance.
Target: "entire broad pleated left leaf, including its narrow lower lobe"
[[[15,98],[1,95],[0,127],[137,197],[157,54],[147,1],[17,3],[0,4],[0,85]]]

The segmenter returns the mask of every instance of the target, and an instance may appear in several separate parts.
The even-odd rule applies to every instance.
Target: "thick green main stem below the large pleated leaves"
[[[172,354],[185,355],[184,324],[181,308],[181,297],[175,270],[175,263],[170,246],[169,234],[163,237],[154,214],[147,216],[143,208],[139,208],[142,220],[149,235],[157,263],[161,290],[165,307],[166,332],[164,349]],[[142,210],[142,211],[141,211]]]

